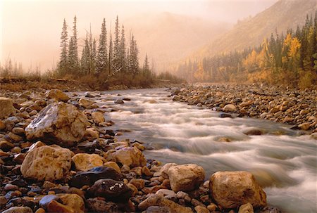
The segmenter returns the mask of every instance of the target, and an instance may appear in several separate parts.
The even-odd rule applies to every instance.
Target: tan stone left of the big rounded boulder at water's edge
[[[168,179],[173,191],[192,191],[203,183],[205,172],[197,164],[182,164],[168,169]]]

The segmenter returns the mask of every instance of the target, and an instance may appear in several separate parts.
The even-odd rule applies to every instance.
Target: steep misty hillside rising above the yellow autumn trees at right
[[[191,58],[213,56],[220,52],[242,50],[257,46],[272,32],[286,32],[302,25],[306,14],[317,10],[316,0],[280,0],[253,18],[238,22],[232,30],[213,39],[209,44],[192,54]]]

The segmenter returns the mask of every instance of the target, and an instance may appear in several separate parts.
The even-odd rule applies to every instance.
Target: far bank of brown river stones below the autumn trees
[[[175,89],[172,96],[173,101],[223,111],[222,117],[255,117],[290,124],[292,129],[317,132],[316,89],[217,84]]]

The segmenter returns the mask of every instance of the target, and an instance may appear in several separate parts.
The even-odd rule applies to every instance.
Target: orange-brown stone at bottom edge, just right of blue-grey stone
[[[56,196],[61,200],[63,205],[66,205],[75,210],[76,213],[84,213],[85,202],[79,195],[76,194],[56,194]]]

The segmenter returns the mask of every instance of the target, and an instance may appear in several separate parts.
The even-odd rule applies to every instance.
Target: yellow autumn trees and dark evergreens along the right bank
[[[191,82],[267,82],[302,88],[317,83],[317,11],[286,35],[272,33],[261,46],[223,53],[178,66]]]

